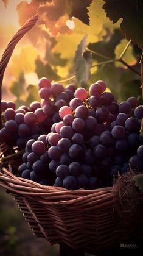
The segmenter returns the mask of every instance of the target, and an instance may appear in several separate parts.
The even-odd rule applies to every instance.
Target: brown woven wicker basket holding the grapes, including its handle
[[[30,18],[7,46],[0,62],[0,85],[16,43],[36,21],[37,15]],[[8,151],[1,143],[1,154]],[[13,196],[36,236],[51,244],[97,251],[143,241],[143,193],[133,177],[130,172],[113,187],[71,191],[16,177],[12,166],[1,165],[0,185]]]

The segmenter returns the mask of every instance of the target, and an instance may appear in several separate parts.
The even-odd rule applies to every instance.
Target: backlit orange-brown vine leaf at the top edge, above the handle
[[[19,23],[23,24],[30,16],[38,12],[40,24],[45,24],[52,35],[71,33],[66,21],[73,16],[89,25],[88,7],[92,0],[32,0],[30,4],[22,1],[18,4]]]

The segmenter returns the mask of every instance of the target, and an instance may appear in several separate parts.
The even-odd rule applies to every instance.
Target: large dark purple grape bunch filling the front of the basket
[[[118,104],[101,80],[89,92],[45,79],[39,86],[40,111],[52,119],[51,129],[27,140],[19,177],[77,190],[108,187],[119,174],[142,171],[143,108],[137,98]]]

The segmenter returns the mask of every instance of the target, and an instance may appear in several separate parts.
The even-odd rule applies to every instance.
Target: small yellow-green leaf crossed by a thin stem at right
[[[122,39],[119,44],[117,44],[115,49],[115,55],[116,59],[120,57],[120,54],[122,54],[122,51],[124,51],[125,46],[127,46],[128,40]],[[134,65],[136,63],[136,58],[133,56],[133,46],[129,46],[127,51],[124,54],[124,57],[122,58],[124,62],[127,62],[128,65]],[[122,67],[127,68],[125,65],[123,65],[120,62],[115,62],[116,67]]]

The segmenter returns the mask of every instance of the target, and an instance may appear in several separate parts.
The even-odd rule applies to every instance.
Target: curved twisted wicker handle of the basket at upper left
[[[19,40],[28,32],[38,20],[38,14],[36,13],[32,16],[29,20],[24,23],[24,25],[13,35],[12,39],[10,40],[7,48],[5,49],[4,53],[2,54],[2,58],[0,61],[0,114],[1,114],[1,98],[2,98],[2,80],[4,77],[4,71],[9,63],[10,57],[15,49],[16,44]],[[2,128],[2,118],[0,117],[0,129]]]

